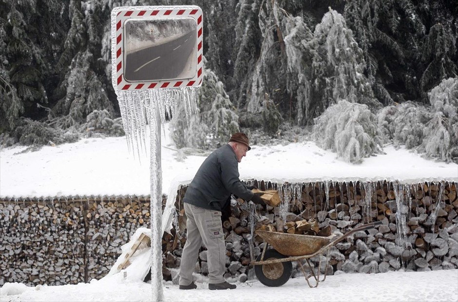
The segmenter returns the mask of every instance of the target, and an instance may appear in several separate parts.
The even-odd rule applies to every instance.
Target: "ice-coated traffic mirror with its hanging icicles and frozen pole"
[[[146,151],[149,130],[152,300],[163,301],[161,126],[178,104],[195,112],[202,84],[198,6],[116,7],[111,14],[112,82],[129,151]],[[148,129],[149,128],[149,129]],[[145,152],[146,153],[146,152]]]

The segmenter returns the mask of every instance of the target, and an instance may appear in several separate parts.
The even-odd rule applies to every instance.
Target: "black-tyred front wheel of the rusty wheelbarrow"
[[[256,261],[261,261],[260,254]],[[283,259],[287,256],[280,254],[275,249],[267,249],[264,254],[264,261],[270,259]],[[285,284],[289,277],[291,277],[292,265],[290,261],[284,261],[280,263],[271,263],[271,264],[259,264],[254,265],[254,273],[256,278],[266,286],[281,286]]]

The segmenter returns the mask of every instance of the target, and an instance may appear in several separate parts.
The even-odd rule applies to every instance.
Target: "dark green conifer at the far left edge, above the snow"
[[[37,35],[41,29],[41,20],[36,18],[39,13],[36,1],[1,3],[1,132],[13,130],[21,113],[33,117],[47,113],[37,107],[48,102],[43,82],[50,70],[43,50],[48,47],[40,45],[43,41]]]

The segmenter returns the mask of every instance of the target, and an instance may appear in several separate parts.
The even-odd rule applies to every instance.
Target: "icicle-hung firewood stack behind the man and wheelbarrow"
[[[458,267],[458,200],[454,182],[400,184],[397,182],[313,182],[282,184],[251,181],[260,189],[277,189],[282,203],[275,207],[257,206],[256,212],[268,218],[271,229],[286,232],[289,222],[314,219],[320,229],[346,233],[364,223],[382,221],[381,226],[357,232],[330,251],[326,273],[378,273],[389,270],[423,271]],[[164,278],[177,283],[182,247],[186,242],[184,219],[180,215],[182,187],[176,198],[176,229],[168,237]],[[252,207],[254,214],[254,207]],[[250,214],[240,206],[232,208],[223,222],[227,248],[226,278],[239,281],[254,277],[248,264],[262,251],[263,240],[253,235]],[[175,236],[177,234],[177,236]],[[249,238],[253,236],[253,244]],[[177,237],[179,240],[176,240]],[[173,244],[172,244],[173,241]],[[250,246],[251,245],[251,246]],[[201,249],[196,271],[208,274],[207,251]],[[316,271],[320,259],[311,258]],[[305,262],[305,260],[303,260]],[[303,277],[293,262],[293,277]],[[324,267],[322,266],[322,272]]]

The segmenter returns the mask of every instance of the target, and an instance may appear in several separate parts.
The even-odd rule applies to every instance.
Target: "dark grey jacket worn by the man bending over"
[[[200,166],[186,190],[183,202],[221,211],[230,194],[251,200],[251,192],[239,179],[239,163],[234,150],[226,144],[211,152]]]

